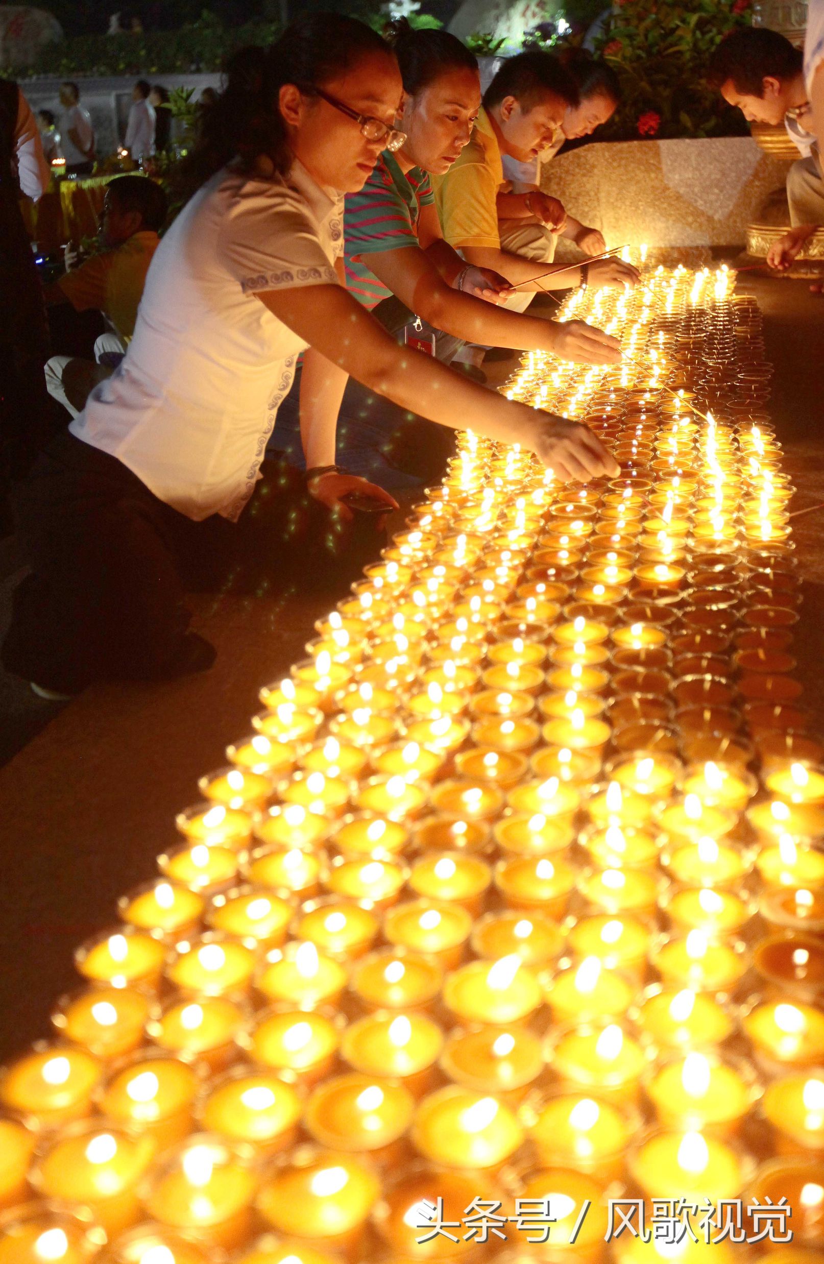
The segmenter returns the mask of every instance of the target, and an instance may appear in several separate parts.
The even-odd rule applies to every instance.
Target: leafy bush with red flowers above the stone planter
[[[617,71],[623,102],[599,139],[746,135],[742,114],[704,73],[724,35],[748,20],[749,0],[614,0],[595,52]]]

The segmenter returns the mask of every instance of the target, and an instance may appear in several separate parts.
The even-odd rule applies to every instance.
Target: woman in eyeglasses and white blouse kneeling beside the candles
[[[586,427],[398,346],[346,292],[341,195],[392,142],[401,94],[382,38],[336,14],[236,61],[206,118],[205,183],[154,257],[129,351],[25,487],[32,574],[4,662],[40,693],[210,666],[214,648],[187,631],[183,578],[212,552],[255,554],[277,580],[278,487],[255,483],[306,348],[310,394],[320,377],[340,398],[351,372],[442,425],[522,444],[560,478],[617,474]],[[308,474],[316,493],[364,487],[334,468]]]

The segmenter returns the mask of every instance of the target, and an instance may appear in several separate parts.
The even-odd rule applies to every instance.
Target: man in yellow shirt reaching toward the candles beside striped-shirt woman
[[[522,217],[498,219],[498,193],[511,187],[503,174],[503,155],[518,162],[535,159],[555,143],[567,106],[578,101],[573,75],[550,53],[508,58],[484,94],[469,144],[445,176],[435,177],[444,236],[468,263],[493,268],[518,287],[506,300],[516,311],[528,307],[542,289],[632,286],[637,281],[633,268],[613,259],[559,268],[555,279],[548,269],[555,234],[564,229],[566,214],[546,193],[531,193]],[[542,276],[547,270],[548,276]]]

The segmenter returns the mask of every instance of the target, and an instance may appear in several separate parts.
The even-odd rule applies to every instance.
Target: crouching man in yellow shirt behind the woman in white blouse
[[[119,176],[106,187],[101,236],[107,249],[71,268],[45,291],[49,305],[97,308],[110,334],[95,344],[96,362],[54,355],[45,365],[48,392],[76,417],[88,392],[107,378],[134,334],[147,273],[167,215],[166,193],[145,176]],[[112,354],[114,353],[114,354]]]

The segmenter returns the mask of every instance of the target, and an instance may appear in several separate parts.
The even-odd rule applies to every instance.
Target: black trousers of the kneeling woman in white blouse
[[[374,520],[346,536],[297,471],[262,473],[238,523],[192,522],[114,456],[59,435],[16,495],[32,573],[14,594],[5,667],[64,693],[163,679],[186,661],[187,590],[265,595],[331,573],[342,592],[384,542]]]

